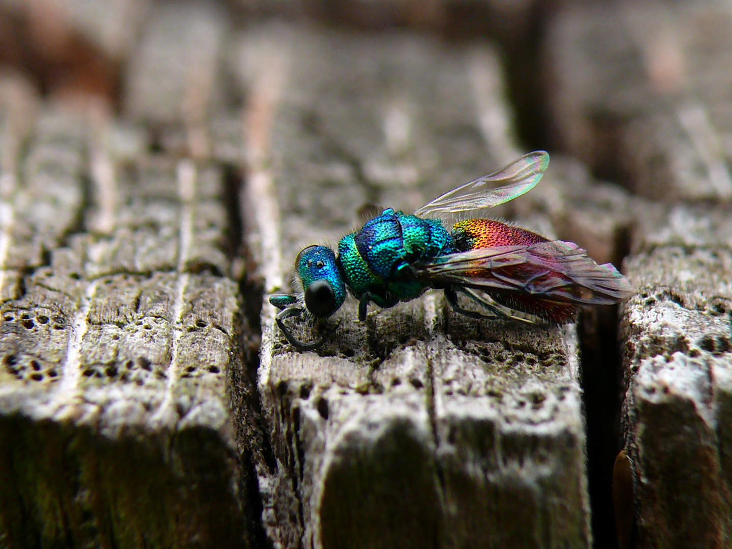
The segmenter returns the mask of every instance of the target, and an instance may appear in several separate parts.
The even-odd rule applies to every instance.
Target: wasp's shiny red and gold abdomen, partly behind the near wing
[[[452,225],[452,241],[456,251],[459,252],[493,246],[530,246],[539,242],[547,242],[547,240],[539,234],[496,220],[469,219]],[[542,267],[528,264],[495,269],[497,274],[506,275],[512,279],[537,280],[537,282],[544,276],[542,275],[543,270]],[[556,276],[556,273],[547,276]],[[578,311],[576,305],[542,299],[536,295],[496,291],[492,292],[490,296],[502,305],[536,315],[556,324],[573,321]]]

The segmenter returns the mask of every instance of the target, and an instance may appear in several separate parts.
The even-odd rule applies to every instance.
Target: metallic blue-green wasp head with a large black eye
[[[346,299],[346,283],[340,274],[335,253],[329,247],[308,246],[295,260],[305,291],[305,307],[318,318],[328,318]]]

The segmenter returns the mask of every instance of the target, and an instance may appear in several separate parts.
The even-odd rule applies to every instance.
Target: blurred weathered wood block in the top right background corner
[[[662,201],[732,198],[724,2],[567,3],[548,29],[552,135]]]

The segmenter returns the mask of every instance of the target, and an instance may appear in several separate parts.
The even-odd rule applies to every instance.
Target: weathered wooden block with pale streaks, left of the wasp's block
[[[73,120],[40,116],[12,194],[7,258],[28,274],[0,313],[0,531],[13,547],[249,547],[223,172],[118,163],[103,136],[119,132]]]

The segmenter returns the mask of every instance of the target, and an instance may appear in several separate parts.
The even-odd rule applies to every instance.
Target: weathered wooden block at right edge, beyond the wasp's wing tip
[[[668,208],[625,264],[637,291],[621,344],[639,548],[722,548],[732,536],[729,219]]]

